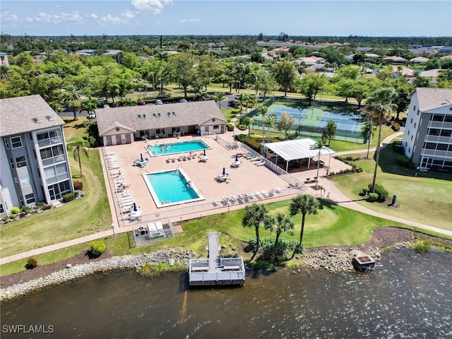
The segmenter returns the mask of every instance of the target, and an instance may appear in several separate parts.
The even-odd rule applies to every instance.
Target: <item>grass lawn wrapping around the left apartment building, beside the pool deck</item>
[[[86,120],[86,119],[85,119]],[[73,121],[71,133],[76,136],[84,131],[81,121]],[[108,230],[112,225],[112,216],[105,189],[105,180],[100,164],[98,150],[89,150],[89,157],[82,157],[84,177],[80,178],[78,162],[69,154],[73,180],[83,182],[85,197],[66,203],[59,208],[47,210],[31,218],[22,218],[0,227],[1,257],[11,256],[31,249],[65,242],[70,239]],[[74,216],[76,215],[76,218]]]

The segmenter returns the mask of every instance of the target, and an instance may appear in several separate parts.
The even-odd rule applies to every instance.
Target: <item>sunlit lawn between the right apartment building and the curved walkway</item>
[[[390,197],[396,194],[396,203],[400,204],[399,208],[367,203],[367,201],[362,201],[362,196],[359,196],[362,187],[372,181],[375,165],[374,153],[371,153],[369,159],[364,159],[365,153],[352,155],[354,159],[352,162],[358,167],[362,167],[364,172],[335,177],[333,182],[347,197],[357,200],[357,203],[370,210],[440,227],[444,230],[452,230],[451,174],[417,172],[415,169],[401,167],[395,161],[398,155],[399,153],[396,153],[391,145],[381,151],[376,182],[388,190]]]

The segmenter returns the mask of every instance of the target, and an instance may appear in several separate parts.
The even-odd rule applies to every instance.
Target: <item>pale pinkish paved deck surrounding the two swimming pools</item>
[[[233,142],[234,136],[231,132],[224,133],[219,135],[220,138]],[[180,138],[164,138],[158,139],[159,143],[172,143],[172,142],[180,142],[180,141],[191,141],[194,136],[181,136]],[[156,172],[156,171],[167,171],[171,169],[182,168],[184,172],[190,177],[191,181],[197,186],[198,190],[201,191],[205,201],[196,201],[193,203],[185,203],[179,205],[181,208],[188,208],[188,212],[184,213],[183,216],[180,216],[174,220],[173,222],[179,222],[182,220],[190,220],[193,218],[200,218],[205,215],[224,213],[228,210],[237,210],[244,208],[244,206],[248,203],[252,202],[270,202],[270,201],[280,201],[286,200],[295,196],[297,192],[295,191],[292,196],[282,196],[278,194],[273,194],[266,199],[254,199],[249,202],[242,203],[234,203],[232,205],[225,204],[223,207],[220,205],[220,208],[203,210],[201,213],[196,211],[194,208],[193,213],[190,213],[189,209],[191,206],[196,206],[199,204],[213,203],[213,202],[222,202],[225,198],[239,198],[239,195],[242,194],[256,194],[261,193],[262,191],[270,192],[273,189],[287,189],[289,186],[287,182],[282,179],[280,176],[272,172],[265,166],[257,166],[256,162],[247,160],[246,157],[239,157],[239,160],[242,161],[242,164],[238,168],[232,168],[232,161],[235,159],[235,155],[237,153],[246,153],[245,150],[240,148],[234,150],[227,150],[225,147],[220,145],[215,139],[210,137],[196,137],[204,142],[206,142],[212,149],[206,150],[206,155],[208,155],[208,160],[206,162],[201,162],[198,157],[195,157],[192,160],[186,161],[175,161],[175,162],[167,162],[167,158],[172,156],[162,155],[160,157],[150,157],[148,153],[146,153],[146,148],[148,145],[153,145],[155,140],[151,141],[136,141],[131,144],[126,145],[112,145],[105,148],[100,149],[102,165],[104,167],[105,179],[110,208],[112,210],[113,216],[113,227],[118,229],[118,232],[124,232],[125,228],[131,229],[131,222],[125,220],[124,215],[121,214],[118,208],[118,196],[115,193],[114,189],[114,175],[121,171],[121,174],[124,176],[125,184],[130,185],[129,191],[131,193],[131,198],[133,202],[137,204],[137,206],[141,210],[141,214],[143,216],[150,215],[153,218],[157,218],[159,215],[165,215],[165,210],[170,210],[177,208],[177,206],[168,206],[165,208],[158,208],[153,201],[153,198],[150,195],[148,187],[146,186],[142,174],[146,172]],[[108,169],[105,155],[107,153],[114,153],[119,161],[119,168]],[[143,157],[148,157],[149,162],[145,167],[137,167],[133,166],[133,162],[136,159],[140,158],[140,154],[143,153]],[[188,155],[188,153],[187,153]],[[321,160],[328,165],[329,157],[321,157]],[[222,174],[222,169],[225,167],[225,172],[227,172],[230,177],[226,182],[217,182],[215,177],[219,174]],[[349,168],[348,165],[345,165],[343,162],[335,160],[331,158],[331,171],[337,172],[340,169]],[[319,177],[325,174],[325,170],[323,168],[320,169]],[[294,172],[292,174],[294,177],[297,177],[300,181],[304,182],[306,177],[315,177],[316,169],[310,169],[308,171],[299,171]],[[328,182],[327,179],[320,179],[319,184],[322,181]],[[311,186],[311,185],[309,185]],[[310,193],[313,195],[319,194],[319,191],[306,191],[305,193]],[[116,215],[116,218],[115,218]],[[149,217],[147,220],[143,220],[143,222],[151,220]]]

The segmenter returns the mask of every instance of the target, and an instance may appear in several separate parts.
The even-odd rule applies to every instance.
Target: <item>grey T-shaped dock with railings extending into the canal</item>
[[[189,285],[244,285],[243,258],[220,258],[218,232],[208,233],[208,258],[190,259]]]

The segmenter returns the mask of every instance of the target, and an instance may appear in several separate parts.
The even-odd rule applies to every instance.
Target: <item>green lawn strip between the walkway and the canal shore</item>
[[[268,203],[266,207],[270,214],[285,213],[288,215],[290,200]],[[242,246],[250,238],[256,236],[253,227],[243,227],[242,218],[244,210],[234,210],[230,213],[220,213],[210,215],[200,220],[184,222],[182,227],[184,232],[177,233],[174,238],[157,242],[150,246],[135,248],[131,232],[119,234],[117,237],[105,238],[107,249],[116,256],[124,254],[142,254],[148,251],[159,249],[179,248],[193,249],[200,256],[207,256],[207,233],[209,230],[222,232],[222,244],[226,246]],[[299,230],[301,227],[301,215],[292,218],[295,222],[295,230],[292,234],[282,234],[285,239],[299,240]],[[304,230],[304,245],[307,248],[320,246],[345,246],[352,244],[362,244],[370,239],[371,230],[383,226],[407,227],[406,225],[391,222],[381,218],[364,215],[355,210],[335,206],[331,203],[321,202],[321,208],[317,215],[307,215]],[[275,237],[269,231],[261,228],[261,237]],[[226,239],[226,240],[225,240]],[[64,261],[74,256],[83,249],[88,249],[88,244],[81,244],[67,249],[61,249],[47,254],[37,256],[40,265],[51,264]],[[8,275],[25,269],[26,259],[7,263],[0,266],[0,274]]]

